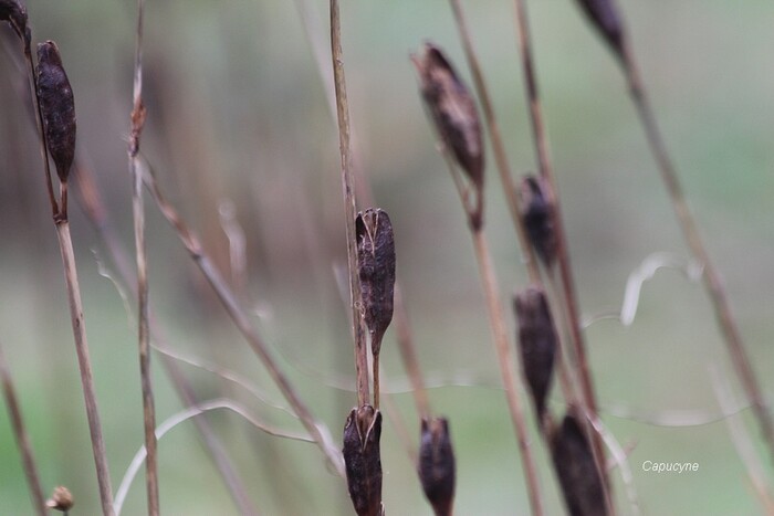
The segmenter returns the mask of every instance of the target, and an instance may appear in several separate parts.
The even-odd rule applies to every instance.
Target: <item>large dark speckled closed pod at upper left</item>
[[[56,43],[38,44],[38,98],[49,152],[60,181],[67,182],[75,157],[75,104]]]

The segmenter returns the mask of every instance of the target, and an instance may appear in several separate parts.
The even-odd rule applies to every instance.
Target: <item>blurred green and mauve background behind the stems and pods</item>
[[[126,136],[136,6],[130,1],[28,1],[35,41],[57,42],[75,93],[79,151],[96,176],[117,234],[133,255]],[[464,3],[514,173],[534,170],[519,67],[514,7]],[[702,235],[722,271],[765,392],[774,391],[774,4],[767,0],[619,2],[653,107]],[[617,309],[628,275],[649,254],[687,257],[624,80],[571,0],[529,2],[551,148],[584,317]],[[453,185],[408,60],[426,40],[447,50],[470,83],[448,2],[344,0],[343,36],[356,159],[395,225],[398,274],[433,409],[449,418],[458,462],[457,514],[527,514],[483,298]],[[327,2],[149,1],[145,33],[148,119],[143,152],[199,231],[223,273],[254,308],[255,326],[282,357],[301,396],[339,440],[355,403],[335,119],[328,105]],[[59,250],[45,204],[20,51],[0,28],[0,341],[14,376],[46,489],[63,484],[74,515],[97,514],[96,481],[72,344]],[[8,36],[8,38],[6,38]],[[491,154],[488,155],[492,164]],[[487,232],[503,303],[526,285],[504,199],[489,167]],[[265,370],[147,202],[150,297],[166,345],[240,372],[283,404]],[[365,208],[365,206],[363,207]],[[101,263],[101,241],[73,204],[97,396],[114,488],[142,444],[136,323]],[[229,215],[232,215],[231,218]],[[244,274],[234,266],[242,256]],[[239,233],[239,231],[237,231]],[[230,246],[231,244],[231,246]],[[230,251],[231,250],[231,251]],[[247,276],[247,277],[245,277]],[[513,318],[509,313],[509,324]],[[605,423],[623,446],[642,514],[762,512],[715,399],[711,368],[732,386],[700,284],[660,272],[642,289],[634,325],[586,330]],[[430,514],[400,424],[418,421],[394,329],[383,346],[391,392],[383,432],[387,514]],[[158,356],[159,422],[181,409]],[[217,375],[180,366],[197,397],[229,397],[255,418],[297,421]],[[342,389],[339,387],[345,387]],[[554,392],[552,410],[563,410]],[[401,423],[397,423],[400,415]],[[688,415],[710,421],[674,425]],[[772,482],[750,410],[741,420]],[[215,427],[261,514],[351,514],[342,480],[316,447],[259,432],[230,412]],[[656,422],[669,424],[655,424]],[[547,454],[531,419],[548,514],[561,514]],[[644,461],[698,462],[690,474],[653,474]],[[188,422],[160,441],[165,514],[238,514]],[[617,472],[621,514],[630,514]],[[30,514],[7,411],[0,411],[0,515]],[[143,514],[142,475],[124,514]]]

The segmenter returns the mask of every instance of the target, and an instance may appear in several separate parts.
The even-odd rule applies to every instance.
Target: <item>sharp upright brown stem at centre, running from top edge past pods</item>
[[[368,349],[363,329],[360,313],[360,288],[357,277],[357,249],[355,239],[355,185],[352,171],[352,148],[349,144],[349,105],[344,77],[344,56],[342,52],[342,27],[338,0],[331,0],[331,53],[333,59],[333,78],[336,91],[336,119],[338,122],[338,151],[342,159],[342,188],[344,191],[344,213],[346,219],[347,265],[349,268],[349,302],[352,304],[352,325],[355,341],[355,371],[357,375],[357,406],[369,401],[368,390]]]

